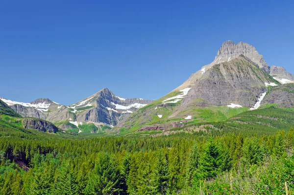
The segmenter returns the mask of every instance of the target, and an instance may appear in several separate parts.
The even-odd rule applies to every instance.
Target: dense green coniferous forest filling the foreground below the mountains
[[[294,130],[67,139],[0,123],[1,195],[294,193]]]

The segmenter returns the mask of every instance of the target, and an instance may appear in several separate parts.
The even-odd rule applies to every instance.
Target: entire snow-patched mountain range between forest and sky
[[[253,46],[226,41],[212,63],[154,101],[125,99],[107,88],[68,106],[48,98],[30,103],[0,99],[22,117],[52,122],[63,131],[94,133],[106,128],[109,133],[123,135],[228,120],[268,105],[293,108],[292,83],[293,74],[268,65]]]

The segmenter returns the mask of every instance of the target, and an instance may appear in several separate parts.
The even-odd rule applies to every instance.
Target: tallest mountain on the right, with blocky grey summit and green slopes
[[[292,101],[276,101],[271,97],[289,91],[279,86],[293,80],[294,76],[283,67],[270,68],[255,47],[226,41],[213,62],[193,73],[168,95],[129,115],[115,129],[168,130],[189,122],[211,119],[215,122],[228,119],[229,113],[258,109],[264,102],[294,107]],[[291,93],[283,94],[287,96],[284,99],[291,96]]]

